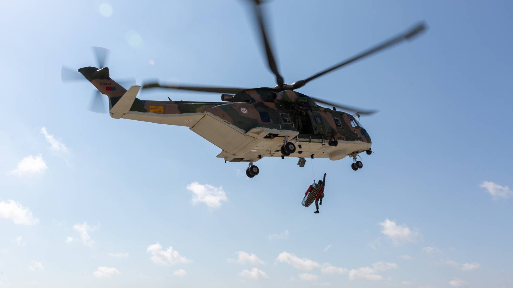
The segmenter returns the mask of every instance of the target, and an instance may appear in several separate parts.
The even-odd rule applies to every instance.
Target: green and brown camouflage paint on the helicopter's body
[[[101,93],[109,97],[111,108],[127,91],[109,77],[108,68],[98,70],[94,67],[85,67],[78,71],[91,81]],[[319,143],[318,145],[322,145],[323,147],[330,139],[339,141],[339,147],[328,147],[326,145],[324,148],[318,147],[319,151],[328,148],[331,150],[342,150],[342,144],[345,142],[348,143],[345,147],[356,147],[351,149],[358,150],[339,151],[343,155],[341,154],[342,156],[339,155],[340,157],[337,156],[334,158],[343,158],[343,156],[353,152],[365,151],[365,149],[370,148],[371,144],[370,136],[363,127],[360,125],[353,127],[353,125],[351,125],[352,115],[342,111],[333,111],[329,108],[320,107],[307,95],[290,90],[277,92],[272,88],[247,89],[233,95],[230,98],[230,102],[158,101],[135,98],[127,114],[137,115],[137,117],[131,116],[132,119],[188,126],[193,131],[196,122],[201,122],[206,115],[210,115],[227,124],[226,128],[223,129],[234,129],[251,138],[253,138],[253,136],[248,136],[249,134],[246,133],[255,128],[263,128],[265,129],[264,131],[275,131],[269,132],[270,134],[265,137],[262,136],[263,138],[258,139],[258,141],[271,141],[274,137],[278,137],[278,140],[274,140],[274,142],[280,143],[282,140],[279,139],[284,139],[284,135],[298,135],[298,141],[300,138],[309,139],[310,145],[317,142]],[[125,118],[130,119],[130,115],[126,115]],[[145,115],[147,115],[147,117]],[[162,120],[165,117],[181,115],[195,115],[196,118],[194,121],[188,120],[191,122],[187,124],[175,124],[174,122],[165,122]],[[314,116],[321,119],[320,124],[315,123]],[[286,118],[289,118],[290,121],[286,121]],[[339,125],[337,125],[336,118],[340,120],[338,122]],[[274,145],[276,145],[275,143]],[[241,152],[242,154],[244,154],[246,150],[249,151],[250,147],[265,146],[259,146],[255,143],[248,144],[247,141],[244,142],[244,145],[245,147],[241,148],[241,151],[243,151]],[[272,147],[272,145],[270,146],[270,149],[266,148],[269,153],[262,153],[264,157],[266,155],[275,156],[277,150],[275,150],[276,148]],[[220,148],[224,150],[223,147]],[[224,152],[220,155],[223,153]],[[247,160],[257,161],[258,158],[256,158],[256,156],[257,155],[255,155],[255,157],[248,156],[253,158],[248,158]],[[290,157],[299,156],[300,155],[291,155]],[[330,156],[330,158],[332,157]],[[225,157],[225,159],[228,159],[228,157]],[[229,159],[231,159],[230,161],[246,161],[246,158],[232,157]]]

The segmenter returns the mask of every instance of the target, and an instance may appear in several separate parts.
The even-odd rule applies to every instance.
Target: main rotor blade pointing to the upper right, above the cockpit
[[[320,77],[320,76],[322,76],[322,75],[324,75],[324,74],[326,74],[328,72],[331,72],[331,71],[333,71],[335,69],[341,68],[342,66],[345,66],[345,65],[347,65],[347,64],[349,64],[349,63],[351,63],[353,61],[356,61],[358,59],[361,59],[363,57],[366,57],[366,56],[369,56],[369,55],[374,54],[376,52],[379,52],[379,51],[381,51],[383,49],[386,49],[386,48],[388,48],[388,47],[390,47],[390,46],[392,46],[394,44],[398,44],[398,43],[402,42],[403,40],[409,40],[410,38],[419,35],[422,31],[426,30],[426,28],[427,27],[426,27],[425,23],[422,22],[422,23],[416,25],[415,27],[413,27],[412,29],[410,29],[410,30],[408,30],[408,31],[406,31],[406,32],[396,36],[396,37],[393,37],[393,38],[391,38],[391,39],[389,39],[389,40],[387,40],[387,41],[385,41],[385,42],[383,42],[383,43],[381,43],[381,44],[379,44],[377,46],[374,46],[374,47],[372,47],[372,48],[370,48],[370,49],[368,49],[368,50],[366,50],[366,51],[364,51],[364,52],[362,52],[360,54],[357,54],[357,55],[355,55],[355,56],[353,56],[353,57],[343,61],[342,63],[339,63],[339,64],[337,64],[335,66],[332,66],[332,67],[330,67],[330,68],[328,68],[328,69],[326,69],[324,71],[321,71],[321,72],[319,72],[319,73],[317,73],[317,74],[315,74],[313,76],[310,76],[310,77],[308,77],[308,78],[306,78],[304,80],[296,81],[292,85],[293,85],[294,89],[300,88],[300,87],[304,86],[308,81],[311,81],[311,80],[313,80],[313,79],[315,79],[317,77]]]

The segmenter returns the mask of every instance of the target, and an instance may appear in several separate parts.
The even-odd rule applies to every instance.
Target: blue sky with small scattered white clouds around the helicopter
[[[186,128],[91,113],[93,86],[61,83],[101,46],[113,79],[274,85],[242,1],[0,4],[0,287],[513,287],[511,2],[266,8],[286,83],[426,20],[299,91],[381,111],[360,120],[363,169],[265,158],[248,179]],[[139,95],[167,96],[219,99]],[[300,204],[312,165],[319,215]]]

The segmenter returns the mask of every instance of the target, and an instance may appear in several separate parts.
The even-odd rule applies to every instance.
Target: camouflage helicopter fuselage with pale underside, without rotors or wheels
[[[221,148],[217,157],[230,162],[281,157],[285,140],[297,146],[286,157],[296,158],[339,160],[371,146],[369,134],[352,115],[318,106],[295,91],[247,89],[223,94],[224,102],[141,100],[135,97],[139,86],[132,86],[127,93],[109,77],[108,68],[78,71],[109,97],[113,118],[189,127]],[[330,140],[338,145],[328,145]]]

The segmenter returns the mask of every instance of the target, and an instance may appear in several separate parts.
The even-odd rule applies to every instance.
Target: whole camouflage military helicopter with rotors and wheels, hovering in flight
[[[221,102],[141,100],[136,98],[141,86],[126,90],[112,80],[109,69],[104,67],[108,50],[94,47],[98,67],[78,69],[100,92],[93,106],[101,104],[101,94],[109,98],[110,116],[115,119],[132,119],[188,127],[206,140],[221,148],[217,155],[230,162],[248,162],[246,175],[250,178],[260,170],[253,162],[263,157],[299,158],[303,167],[305,157],[340,160],[353,159],[351,168],[357,171],[363,163],[357,160],[360,153],[372,153],[371,139],[356,117],[371,115],[376,111],[363,110],[307,96],[295,90],[309,81],[354,61],[377,53],[392,45],[410,40],[426,29],[424,23],[392,37],[360,54],[342,61],[304,80],[285,84],[265,29],[265,17],[259,0],[252,4],[257,27],[265,50],[269,69],[277,85],[262,88],[183,86],[148,83],[143,89],[175,89],[221,93]],[[76,71],[63,67],[62,79],[75,79]],[[78,74],[78,73],[76,73]],[[79,74],[79,76],[82,76]],[[83,78],[82,78],[83,79]],[[98,100],[99,99],[99,100]],[[331,108],[321,107],[319,104]],[[349,111],[351,113],[343,112]]]

